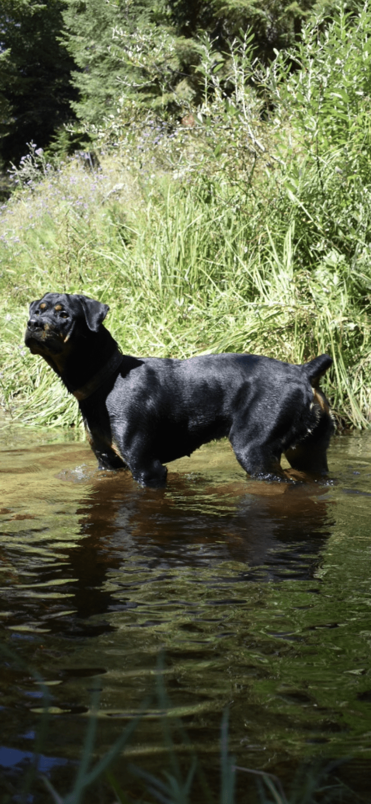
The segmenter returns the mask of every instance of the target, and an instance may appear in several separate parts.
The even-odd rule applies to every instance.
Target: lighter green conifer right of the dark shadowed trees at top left
[[[64,41],[79,68],[71,73],[79,91],[79,100],[71,105],[80,121],[99,125],[115,114],[122,86],[128,81],[137,100],[149,83],[146,75],[141,76],[141,68],[151,72],[156,60],[153,50],[158,84],[159,60],[165,64],[165,71],[177,68],[177,64],[166,64],[167,17],[165,2],[153,6],[149,0],[67,0]]]

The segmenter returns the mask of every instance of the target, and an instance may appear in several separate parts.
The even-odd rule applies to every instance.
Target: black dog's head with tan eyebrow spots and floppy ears
[[[25,334],[33,355],[42,355],[59,371],[76,338],[97,333],[109,307],[101,301],[69,293],[46,293],[31,301]]]

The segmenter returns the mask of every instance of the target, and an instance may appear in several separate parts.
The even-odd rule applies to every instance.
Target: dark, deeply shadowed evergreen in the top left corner
[[[63,0],[2,0],[0,154],[18,160],[26,143],[47,146],[71,117],[73,60],[59,41]]]

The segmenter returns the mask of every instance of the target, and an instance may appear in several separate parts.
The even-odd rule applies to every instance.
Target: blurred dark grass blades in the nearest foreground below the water
[[[16,786],[9,781],[6,783],[7,792],[2,796],[2,804],[10,802],[30,802],[39,800],[40,783],[50,794],[50,801],[54,804],[83,804],[88,800],[89,793],[97,792],[100,802],[112,802],[112,794],[115,794],[114,804],[141,804],[141,802],[161,802],[161,804],[192,804],[192,802],[205,802],[205,804],[238,804],[241,796],[236,791],[237,774],[247,774],[255,781],[255,791],[251,796],[249,788],[249,801],[251,804],[356,804],[365,802],[365,798],[359,798],[344,781],[337,777],[343,761],[324,761],[315,759],[306,761],[292,771],[290,790],[287,793],[281,781],[275,774],[266,771],[251,769],[235,765],[235,758],[229,750],[229,707],[222,713],[222,723],[220,732],[220,760],[219,760],[219,779],[213,780],[212,786],[207,779],[207,774],[202,768],[202,763],[194,753],[194,748],[187,736],[181,720],[178,717],[170,716],[171,702],[165,689],[163,679],[163,654],[157,658],[156,686],[153,695],[150,695],[141,705],[137,716],[130,720],[124,731],[117,738],[115,743],[108,749],[103,757],[96,756],[96,732],[99,724],[99,693],[92,694],[92,702],[88,715],[88,725],[85,733],[84,745],[81,757],[74,774],[74,779],[69,784],[67,794],[60,794],[59,790],[51,784],[50,779],[39,773],[39,755],[47,745],[47,728],[49,720],[49,708],[51,705],[50,691],[38,671],[28,667],[18,653],[10,650],[5,644],[0,646],[0,652],[6,660],[17,667],[27,670],[27,673],[34,677],[40,691],[43,694],[42,706],[40,708],[38,730],[36,732],[34,761],[31,761],[28,769],[22,776],[18,776]],[[146,714],[157,712],[159,716],[162,744],[165,747],[166,759],[164,765],[167,769],[159,771],[157,775],[145,771],[138,765],[130,761],[130,740],[133,732],[140,723],[141,718]],[[176,739],[174,737],[176,735]],[[181,742],[179,742],[181,738]],[[179,761],[179,748],[186,751],[187,759],[185,762]],[[125,752],[128,749],[128,756]],[[76,757],[77,758],[77,757]],[[124,783],[122,779],[125,779]],[[120,779],[120,781],[119,781]],[[141,789],[140,798],[133,794],[133,781],[136,790]],[[64,782],[64,786],[66,781]],[[130,790],[130,792],[127,792]],[[39,791],[39,792],[38,792]],[[255,793],[255,794],[254,794]],[[38,798],[36,799],[35,796]],[[135,798],[133,797],[135,796]],[[44,797],[42,797],[44,800]],[[94,799],[96,800],[96,799]],[[243,798],[246,802],[246,798]]]

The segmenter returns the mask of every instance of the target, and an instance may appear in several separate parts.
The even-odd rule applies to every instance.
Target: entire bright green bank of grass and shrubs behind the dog
[[[38,182],[28,170],[0,222],[0,392],[14,419],[78,422],[75,401],[22,346],[29,301],[53,290],[108,302],[107,326],[134,354],[301,363],[328,352],[338,419],[369,425],[370,19],[366,9],[317,20],[266,72],[248,36],[224,72],[206,43],[194,129],[174,123],[160,137],[147,121],[124,135],[114,121],[116,150],[96,170],[44,160]]]

